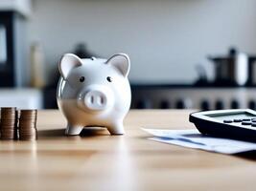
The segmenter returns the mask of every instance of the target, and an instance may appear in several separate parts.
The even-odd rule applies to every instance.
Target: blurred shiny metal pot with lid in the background
[[[252,83],[251,68],[255,56],[230,49],[226,56],[209,56],[215,64],[215,83],[218,85],[244,86]]]

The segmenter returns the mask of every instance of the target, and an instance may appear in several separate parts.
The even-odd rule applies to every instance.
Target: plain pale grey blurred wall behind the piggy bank
[[[35,0],[30,41],[51,73],[78,42],[102,56],[128,53],[132,81],[192,82],[195,66],[231,45],[256,53],[255,0]]]

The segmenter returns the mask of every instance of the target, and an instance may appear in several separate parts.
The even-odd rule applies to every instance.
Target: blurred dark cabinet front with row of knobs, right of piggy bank
[[[133,109],[256,110],[256,87],[131,85]]]

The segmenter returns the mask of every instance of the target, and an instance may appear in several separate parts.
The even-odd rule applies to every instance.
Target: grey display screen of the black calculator
[[[256,117],[250,113],[247,112],[241,112],[241,113],[226,113],[226,114],[212,114],[212,115],[206,115],[207,117],[213,117],[216,119],[220,119],[220,120],[225,120],[225,119],[235,119],[235,118],[239,118],[239,119],[243,119],[243,118],[253,118]]]

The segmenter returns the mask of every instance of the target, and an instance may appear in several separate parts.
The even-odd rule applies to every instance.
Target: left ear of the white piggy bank
[[[64,79],[67,78],[67,75],[73,68],[81,66],[81,58],[73,53],[64,54],[59,63],[58,63],[58,71],[62,75]]]

